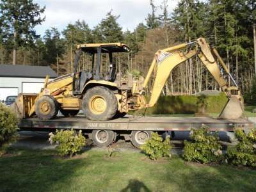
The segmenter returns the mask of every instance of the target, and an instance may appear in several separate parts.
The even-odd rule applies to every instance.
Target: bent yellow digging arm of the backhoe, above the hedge
[[[180,50],[186,47],[191,48],[192,46],[193,46],[193,49],[189,49],[189,51],[186,53]],[[211,49],[211,47],[209,46],[209,44],[207,44],[204,38],[198,38],[195,42],[191,42],[189,44],[176,45],[174,47],[169,47],[167,49],[159,50],[156,52],[154,60],[150,65],[148,74],[143,83],[143,89],[145,89],[152,72],[154,71],[154,69],[156,69],[156,75],[154,77],[154,83],[151,90],[151,97],[147,104],[147,107],[152,107],[156,104],[163,90],[164,84],[166,83],[170,75],[170,72],[172,72],[173,68],[175,68],[180,63],[188,60],[189,58],[192,58],[193,56],[198,56],[198,58],[200,58],[200,60],[205,65],[207,70],[209,70],[209,72],[212,74],[214,79],[219,84],[221,90],[225,92],[228,99],[235,100],[234,102],[239,103],[239,106],[241,106],[242,99],[241,99],[240,92],[237,88],[236,81],[234,81],[234,79],[230,75],[228,68],[226,67],[223,60],[220,58],[220,55],[218,54],[216,49],[214,48]],[[234,86],[228,87],[227,82],[221,75],[221,70],[220,70],[220,67],[218,66],[217,59],[218,61],[220,61],[221,66],[224,68],[225,72],[227,72],[228,76],[231,77],[236,87]],[[234,99],[232,97],[236,97],[236,98]],[[236,107],[238,106],[237,104],[235,105]],[[229,106],[227,104],[226,108]],[[234,108],[234,104],[232,104],[231,108]],[[225,112],[225,109],[223,111]],[[239,110],[239,114],[243,113],[241,111],[243,111],[243,109]],[[238,118],[237,116],[239,114],[237,113],[236,118]],[[241,116],[241,114],[239,116]],[[226,117],[227,116],[225,116],[225,118]]]

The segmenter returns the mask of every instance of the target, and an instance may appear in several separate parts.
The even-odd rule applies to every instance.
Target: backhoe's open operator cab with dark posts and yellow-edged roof
[[[104,80],[114,82],[116,79],[116,62],[113,61],[113,53],[115,52],[129,52],[127,45],[122,43],[109,44],[81,44],[77,45],[77,51],[74,61],[74,77],[73,77],[73,94],[81,95],[84,84],[90,80]],[[90,57],[90,70],[78,69],[79,61],[81,61],[82,54],[86,53]],[[104,61],[108,60],[108,71],[102,74],[102,58]],[[87,68],[88,66],[86,66]]]

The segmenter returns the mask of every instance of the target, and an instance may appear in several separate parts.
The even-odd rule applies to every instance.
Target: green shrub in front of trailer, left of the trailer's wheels
[[[50,143],[57,144],[56,149],[61,156],[72,157],[84,147],[86,141],[81,130],[57,130],[56,134],[51,132],[49,136]]]

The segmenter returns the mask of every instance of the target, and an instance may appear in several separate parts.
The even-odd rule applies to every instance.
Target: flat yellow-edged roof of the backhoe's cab
[[[102,47],[102,52],[129,52],[130,48],[122,43],[107,43],[107,44],[80,44],[77,49],[82,49],[85,52],[97,53],[97,48]]]

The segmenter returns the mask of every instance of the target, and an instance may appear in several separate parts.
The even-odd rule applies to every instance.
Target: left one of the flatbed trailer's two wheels
[[[115,140],[115,132],[110,130],[93,130],[92,140],[98,147],[108,147]]]

